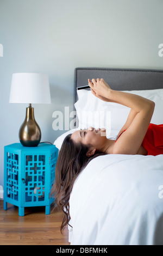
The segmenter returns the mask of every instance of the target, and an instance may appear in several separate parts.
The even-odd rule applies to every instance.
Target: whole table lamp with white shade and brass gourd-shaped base
[[[12,75],[10,103],[28,103],[26,118],[20,127],[19,139],[24,147],[36,147],[41,130],[34,117],[32,103],[51,103],[48,75],[16,73]]]

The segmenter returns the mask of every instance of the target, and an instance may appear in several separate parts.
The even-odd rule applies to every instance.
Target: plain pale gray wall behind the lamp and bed
[[[51,105],[34,105],[42,141],[54,142],[54,111],[73,109],[77,66],[162,69],[161,0],[0,0],[0,185],[4,145],[19,142],[26,105],[10,104],[15,72],[49,75]]]

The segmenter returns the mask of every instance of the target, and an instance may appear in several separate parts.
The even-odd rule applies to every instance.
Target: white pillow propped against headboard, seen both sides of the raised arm
[[[106,130],[109,129],[108,132],[111,130],[120,131],[126,123],[130,108],[117,103],[102,101],[94,96],[91,90],[81,91],[83,92],[78,91],[78,101],[74,104],[79,119],[79,127],[82,129],[89,126],[105,127]],[[124,92],[134,93],[153,100],[155,111],[151,123],[163,124],[163,89]]]

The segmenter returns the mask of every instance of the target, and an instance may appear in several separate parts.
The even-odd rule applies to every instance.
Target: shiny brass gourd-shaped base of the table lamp
[[[26,108],[26,118],[19,131],[20,143],[24,147],[36,147],[41,140],[41,130],[34,118],[34,108],[29,104]]]

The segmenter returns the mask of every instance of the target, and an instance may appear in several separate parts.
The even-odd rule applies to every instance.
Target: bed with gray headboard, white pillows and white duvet
[[[77,127],[54,144],[60,149],[68,133],[105,127],[115,139],[129,108],[103,102],[90,90],[77,90],[87,79],[104,78],[112,89],[155,102],[151,123],[163,124],[163,71],[147,69],[76,68],[74,107]],[[70,197],[71,245],[163,245],[163,155],[103,155],[80,173]]]

